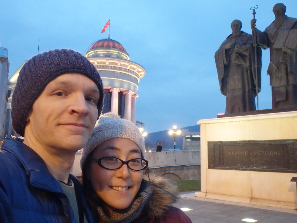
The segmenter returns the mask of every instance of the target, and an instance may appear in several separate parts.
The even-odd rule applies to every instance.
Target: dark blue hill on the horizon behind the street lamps
[[[176,149],[181,149],[183,146],[183,136],[187,133],[187,132],[200,132],[200,125],[192,125],[192,126],[187,126],[184,128],[179,128],[181,130],[181,134],[179,136],[176,137]],[[173,148],[173,136],[170,136],[168,134],[168,130],[164,130],[164,131],[159,131],[159,132],[152,132],[149,133],[146,138],[145,138],[145,142],[146,142],[146,147],[152,147],[152,148],[156,148],[156,141],[157,140],[161,140],[161,141],[165,141],[163,142],[163,145],[161,143],[161,146],[165,149],[166,148],[166,143],[167,143],[167,148],[168,149],[172,149]],[[165,144],[165,145],[164,145]]]

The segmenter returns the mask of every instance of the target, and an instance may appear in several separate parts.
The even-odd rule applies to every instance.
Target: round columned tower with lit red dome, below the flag
[[[105,98],[102,112],[113,112],[135,123],[138,83],[145,75],[145,69],[130,61],[121,43],[112,39],[91,44],[86,57],[103,81]]]

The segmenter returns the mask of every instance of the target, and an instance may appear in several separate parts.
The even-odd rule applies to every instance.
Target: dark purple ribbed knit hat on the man
[[[27,116],[46,85],[66,73],[80,73],[94,81],[99,89],[98,117],[102,110],[104,89],[98,71],[89,60],[73,50],[61,49],[32,57],[20,70],[12,95],[11,119],[13,129],[24,136]]]

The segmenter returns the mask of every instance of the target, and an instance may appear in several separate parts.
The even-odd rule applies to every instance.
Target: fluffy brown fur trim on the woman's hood
[[[178,190],[168,179],[160,176],[151,176],[153,191],[146,204],[146,211],[151,219],[160,218],[168,208],[178,200]]]

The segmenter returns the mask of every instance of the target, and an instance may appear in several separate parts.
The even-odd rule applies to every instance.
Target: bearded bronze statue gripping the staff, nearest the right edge
[[[257,44],[270,48],[270,76],[272,108],[297,106],[297,19],[285,15],[286,6],[275,4],[272,9],[275,20],[261,32],[252,19],[251,27]]]

